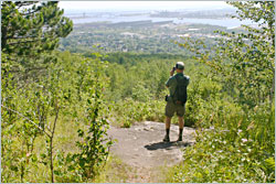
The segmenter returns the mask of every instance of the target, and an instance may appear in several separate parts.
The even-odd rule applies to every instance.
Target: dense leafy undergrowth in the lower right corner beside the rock
[[[263,106],[256,111],[226,111],[223,125],[197,132],[197,144],[184,151],[183,162],[170,171],[173,177],[168,182],[274,182],[274,109]],[[261,136],[264,131],[266,137]]]

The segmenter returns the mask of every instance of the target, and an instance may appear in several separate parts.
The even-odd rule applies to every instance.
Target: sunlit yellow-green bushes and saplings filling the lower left
[[[57,57],[46,77],[25,84],[24,88],[17,86],[11,74],[2,75],[4,182],[33,180],[32,171],[41,166],[49,171],[41,182],[92,181],[106,162],[112,144],[106,134],[107,106],[103,96],[103,89],[108,85],[104,75],[107,65],[100,55],[94,55],[92,59],[64,53]],[[72,63],[73,59],[77,62]],[[78,75],[81,73],[83,75]],[[75,140],[77,152],[57,150],[60,145],[54,143],[54,138],[56,126],[62,123],[59,115],[78,122],[79,139],[85,140]],[[43,144],[40,151],[36,150],[38,142]]]

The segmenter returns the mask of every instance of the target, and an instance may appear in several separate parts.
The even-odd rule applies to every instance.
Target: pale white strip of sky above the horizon
[[[232,8],[224,1],[60,1],[66,10],[181,10]]]

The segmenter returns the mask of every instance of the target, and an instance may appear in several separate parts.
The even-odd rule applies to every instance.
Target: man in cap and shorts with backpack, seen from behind
[[[177,74],[174,74],[177,71]],[[177,112],[179,119],[179,138],[177,141],[182,141],[182,132],[184,127],[183,116],[185,112],[185,101],[187,101],[187,86],[189,85],[190,77],[183,74],[184,64],[183,62],[178,62],[176,67],[170,72],[170,78],[166,83],[166,86],[170,90],[170,95],[166,96],[166,136],[163,138],[164,142],[170,142],[170,123],[171,118],[174,112]]]

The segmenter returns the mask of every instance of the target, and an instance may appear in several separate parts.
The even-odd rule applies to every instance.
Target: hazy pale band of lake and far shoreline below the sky
[[[209,24],[227,29],[251,24],[250,21],[240,21],[230,18],[233,10],[205,10],[205,11],[128,11],[128,12],[89,12],[78,11],[66,14],[74,24],[109,22],[110,24],[132,23],[137,21],[151,21],[152,23],[172,22],[174,24]]]

